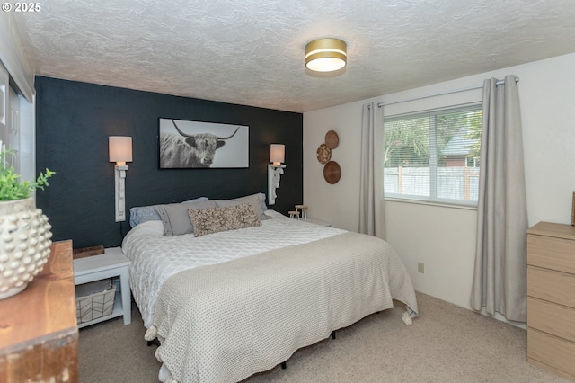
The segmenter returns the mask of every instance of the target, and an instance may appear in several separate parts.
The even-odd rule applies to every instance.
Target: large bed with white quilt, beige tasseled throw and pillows
[[[261,200],[243,203],[254,198],[173,204],[171,216],[138,222],[124,238],[145,338],[160,342],[160,380],[246,379],[394,307],[394,299],[405,305],[406,324],[417,316],[410,276],[385,241],[291,219],[264,210]],[[236,208],[249,224],[242,213],[232,229],[202,226],[223,209],[237,215]],[[182,212],[191,233],[176,233],[178,219],[187,224]]]

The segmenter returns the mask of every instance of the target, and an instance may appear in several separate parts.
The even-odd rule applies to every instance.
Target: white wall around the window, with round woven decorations
[[[304,203],[308,216],[332,226],[358,230],[359,141],[361,107],[366,102],[393,102],[482,85],[485,78],[520,77],[519,97],[526,159],[529,225],[545,220],[571,224],[575,191],[575,54],[468,76],[374,99],[304,114]],[[481,90],[385,107],[385,115],[438,103],[481,99]],[[438,102],[439,101],[439,102]],[[456,101],[455,101],[456,102]],[[341,165],[341,181],[323,181],[323,165],[315,158],[325,133],[334,129],[340,146],[332,159]],[[476,211],[386,201],[387,241],[407,266],[415,289],[470,308]],[[425,263],[425,273],[417,263]]]

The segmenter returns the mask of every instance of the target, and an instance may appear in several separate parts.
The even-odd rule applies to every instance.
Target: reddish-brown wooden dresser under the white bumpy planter
[[[77,381],[72,241],[63,241],[26,289],[0,300],[0,382]]]

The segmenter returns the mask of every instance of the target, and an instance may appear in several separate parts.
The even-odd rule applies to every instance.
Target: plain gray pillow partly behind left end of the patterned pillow
[[[190,234],[194,232],[190,216],[188,216],[188,209],[207,209],[215,207],[215,201],[204,200],[201,202],[182,202],[158,205],[155,207],[155,211],[157,211],[164,223],[164,236],[181,236],[182,234]]]

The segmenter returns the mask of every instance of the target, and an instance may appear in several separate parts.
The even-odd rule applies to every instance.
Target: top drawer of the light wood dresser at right
[[[528,235],[527,264],[575,274],[575,241]]]

